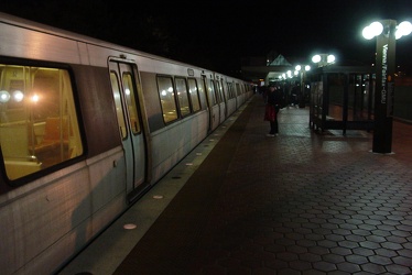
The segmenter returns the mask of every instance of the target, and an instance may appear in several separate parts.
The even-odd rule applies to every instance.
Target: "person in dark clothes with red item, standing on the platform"
[[[274,84],[269,85],[265,103],[264,120],[270,123],[270,132],[267,135],[274,136],[279,133],[278,113],[281,103],[281,96],[277,92]]]

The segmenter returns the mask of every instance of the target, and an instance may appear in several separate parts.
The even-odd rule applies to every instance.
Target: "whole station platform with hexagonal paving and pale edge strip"
[[[256,95],[58,274],[412,274],[412,125],[315,132]]]

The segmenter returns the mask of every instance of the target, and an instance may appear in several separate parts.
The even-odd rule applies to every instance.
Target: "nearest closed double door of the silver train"
[[[137,85],[138,76],[128,63],[110,61],[110,80],[117,110],[120,136],[124,150],[129,200],[148,186],[148,143]]]

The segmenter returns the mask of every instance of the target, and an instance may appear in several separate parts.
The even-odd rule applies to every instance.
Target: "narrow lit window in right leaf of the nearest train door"
[[[133,78],[130,73],[123,74],[123,88],[126,102],[128,103],[130,128],[133,131],[133,134],[140,133],[140,121],[138,119],[138,107],[135,105],[135,90],[133,85]]]

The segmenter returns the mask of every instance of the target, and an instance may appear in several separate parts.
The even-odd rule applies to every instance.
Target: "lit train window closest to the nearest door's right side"
[[[162,103],[163,120],[171,122],[177,119],[177,107],[174,99],[172,77],[158,76],[158,88],[160,101]]]

